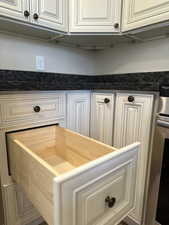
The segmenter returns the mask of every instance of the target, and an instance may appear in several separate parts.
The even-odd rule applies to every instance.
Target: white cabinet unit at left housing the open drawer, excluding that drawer
[[[5,225],[26,225],[32,222],[35,225],[43,221],[23,187],[16,185],[10,176],[6,133],[57,123],[64,126],[65,98],[65,92],[62,91],[0,95],[0,190]]]

